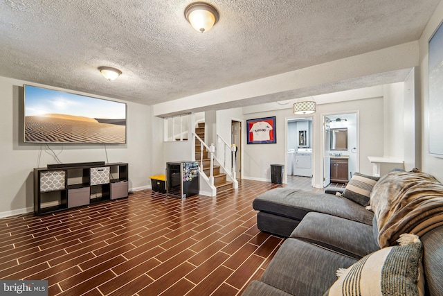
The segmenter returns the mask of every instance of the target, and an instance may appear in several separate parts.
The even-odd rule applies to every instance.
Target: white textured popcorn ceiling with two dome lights
[[[198,33],[190,0],[3,0],[0,76],[152,105],[418,40],[440,0],[210,2]]]

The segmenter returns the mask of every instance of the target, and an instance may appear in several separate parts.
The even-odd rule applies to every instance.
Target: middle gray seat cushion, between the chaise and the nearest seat
[[[356,259],[380,249],[370,225],[320,213],[307,214],[291,237]]]

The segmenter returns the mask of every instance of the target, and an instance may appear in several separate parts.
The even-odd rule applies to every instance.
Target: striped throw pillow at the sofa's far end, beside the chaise
[[[347,183],[342,195],[344,198],[366,207],[369,204],[369,196],[372,188],[374,188],[374,185],[379,179],[379,177],[354,173],[350,182]]]

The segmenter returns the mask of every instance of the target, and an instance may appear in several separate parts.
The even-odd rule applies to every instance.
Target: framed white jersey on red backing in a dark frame
[[[275,137],[275,116],[262,119],[248,119],[248,144],[277,143]]]

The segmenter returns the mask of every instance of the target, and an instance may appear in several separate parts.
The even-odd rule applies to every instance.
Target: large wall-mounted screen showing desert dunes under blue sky
[[[24,142],[126,143],[125,103],[24,88]]]

